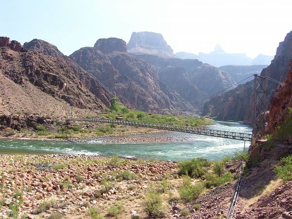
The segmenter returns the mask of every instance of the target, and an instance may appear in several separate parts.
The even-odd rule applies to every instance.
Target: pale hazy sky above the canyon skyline
[[[291,0],[1,0],[0,36],[46,40],[72,54],[99,38],[127,43],[132,32],[161,33],[174,53],[275,55],[292,31]]]

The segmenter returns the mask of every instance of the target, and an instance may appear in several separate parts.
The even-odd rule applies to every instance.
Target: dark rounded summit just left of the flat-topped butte
[[[123,39],[119,38],[102,38],[98,39],[94,44],[94,49],[101,51],[104,54],[111,52],[127,52],[127,44]]]

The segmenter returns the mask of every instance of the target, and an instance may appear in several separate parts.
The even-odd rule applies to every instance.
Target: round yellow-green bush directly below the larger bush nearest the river
[[[186,202],[191,202],[198,199],[203,191],[203,183],[196,183],[195,185],[191,185],[189,182],[185,181],[179,188],[180,196]]]

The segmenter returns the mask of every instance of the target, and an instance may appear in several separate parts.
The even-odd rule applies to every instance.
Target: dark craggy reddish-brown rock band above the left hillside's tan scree
[[[44,55],[39,51],[19,53],[2,47],[0,69],[16,84],[29,82],[74,107],[104,110],[105,105],[110,106],[111,94],[70,59]]]

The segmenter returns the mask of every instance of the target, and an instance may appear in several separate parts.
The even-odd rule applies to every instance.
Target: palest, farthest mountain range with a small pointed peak
[[[224,65],[269,65],[273,56],[269,55],[258,55],[256,58],[252,59],[245,54],[229,54],[224,52],[224,50],[216,45],[214,52],[205,54],[199,53],[190,54],[185,52],[179,52],[175,54],[177,57],[182,59],[199,59],[203,63],[208,63],[214,66],[224,66]]]

